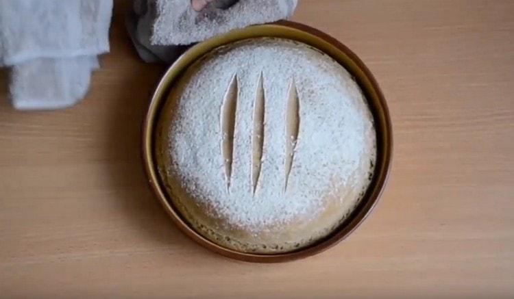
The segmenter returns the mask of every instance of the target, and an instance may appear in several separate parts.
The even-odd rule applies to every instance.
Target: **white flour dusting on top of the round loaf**
[[[264,141],[254,193],[252,134],[261,73]],[[227,190],[220,112],[234,75],[237,103]],[[284,192],[286,110],[293,81],[299,127]],[[345,196],[344,190],[360,191],[369,183],[376,134],[366,100],[342,66],[305,44],[267,38],[220,49],[186,83],[176,109],[168,132],[168,171],[198,203],[210,207],[208,213],[239,229],[258,232],[308,222],[324,212],[333,192],[342,192],[338,200],[349,200],[345,207],[352,209],[359,198]],[[347,212],[341,211],[341,217]]]

